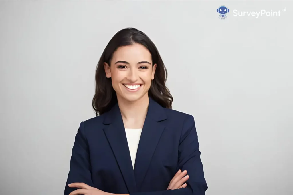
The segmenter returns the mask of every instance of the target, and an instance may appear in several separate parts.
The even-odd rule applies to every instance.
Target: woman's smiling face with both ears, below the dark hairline
[[[151,54],[143,45],[119,47],[110,64],[104,63],[104,67],[117,98],[133,102],[148,96],[156,64],[152,66]]]

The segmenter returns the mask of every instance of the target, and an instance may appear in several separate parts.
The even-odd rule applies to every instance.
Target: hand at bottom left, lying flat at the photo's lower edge
[[[84,194],[84,195],[110,195],[110,193],[104,192],[102,190],[99,190],[97,188],[91,187],[84,183],[72,183],[68,185],[72,188],[80,188],[77,190],[74,190],[69,195],[78,195],[78,194]]]

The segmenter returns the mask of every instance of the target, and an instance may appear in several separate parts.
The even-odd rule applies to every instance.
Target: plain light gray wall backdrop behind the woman
[[[220,20],[216,9],[231,10]],[[280,17],[235,17],[274,11]],[[293,194],[292,1],[1,1],[0,194],[63,194],[96,64],[136,27],[195,117],[208,195]]]

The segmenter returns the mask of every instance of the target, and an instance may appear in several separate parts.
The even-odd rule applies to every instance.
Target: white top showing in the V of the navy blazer
[[[142,129],[125,129],[128,147],[130,151],[132,167],[134,169],[135,157],[137,153],[137,148],[139,144],[140,135],[142,133]]]

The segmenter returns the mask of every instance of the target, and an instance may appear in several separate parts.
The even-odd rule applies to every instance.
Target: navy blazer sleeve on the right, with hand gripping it
[[[200,160],[199,143],[192,115],[185,119],[178,151],[178,169],[187,170],[187,187],[175,190],[131,193],[130,195],[205,195],[207,183]]]

